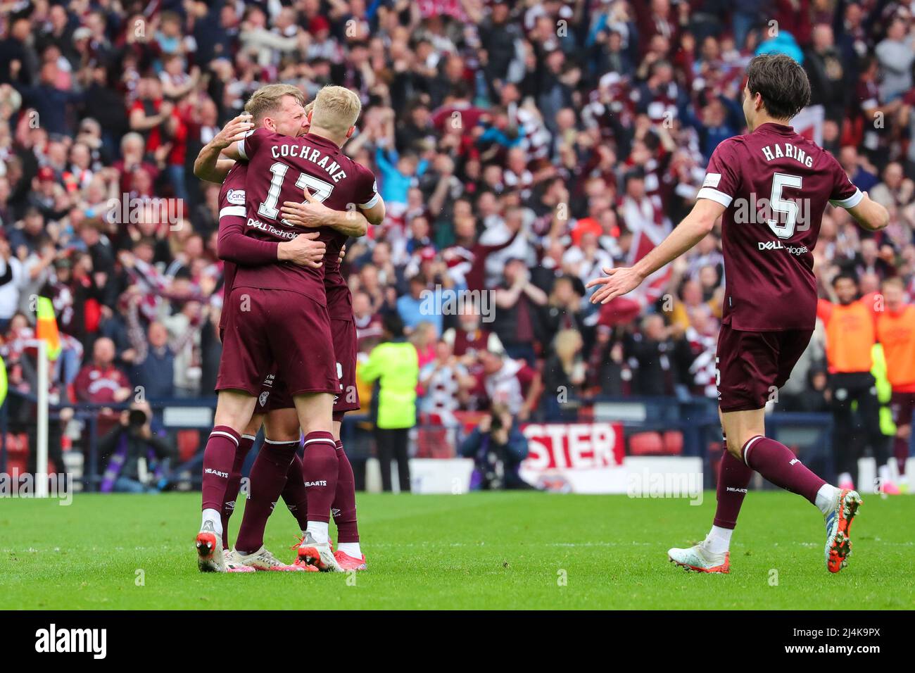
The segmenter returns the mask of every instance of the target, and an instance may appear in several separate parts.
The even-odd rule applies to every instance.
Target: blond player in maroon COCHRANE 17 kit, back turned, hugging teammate
[[[299,233],[280,204],[298,201],[303,190],[331,210],[358,208],[370,223],[381,223],[384,203],[368,168],[342,153],[361,112],[359,97],[343,87],[325,87],[315,98],[311,127],[292,138],[257,129],[228,147],[226,156],[248,161],[245,182],[248,233],[284,240]],[[318,229],[327,244],[325,264],[337,260],[346,241],[331,228]],[[339,365],[332,342],[324,268],[269,265],[240,267],[217,387],[229,391],[227,408],[247,422],[267,364],[284,374],[305,433],[303,476],[307,487],[307,528],[299,559],[319,570],[343,570],[328,539],[328,520],[339,480],[339,454],[333,437],[333,402],[339,395]],[[219,422],[219,419],[217,419]],[[274,497],[275,500],[275,497]],[[240,538],[244,534],[242,521]],[[236,549],[239,545],[236,544]]]

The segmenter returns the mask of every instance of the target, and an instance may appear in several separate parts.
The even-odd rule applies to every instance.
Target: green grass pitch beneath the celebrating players
[[[705,536],[703,505],[625,495],[361,494],[370,570],[200,574],[199,494],[76,494],[0,503],[2,609],[911,609],[915,497],[865,496],[849,567],[823,564],[822,516],[801,497],[748,495],[731,573],[674,568]],[[232,533],[241,521],[232,517]],[[332,527],[332,526],[331,526]],[[276,506],[266,544],[292,561]],[[142,581],[141,581],[142,580]]]

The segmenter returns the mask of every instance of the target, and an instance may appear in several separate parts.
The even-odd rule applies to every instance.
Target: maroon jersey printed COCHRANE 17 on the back
[[[371,170],[344,155],[332,141],[314,134],[294,138],[261,128],[239,141],[238,147],[248,160],[247,233],[262,240],[287,241],[298,233],[317,231],[318,240],[327,244],[327,255],[318,269],[285,262],[240,267],[235,287],[290,290],[326,306],[324,278],[327,272],[339,269],[336,260],[346,236],[330,227],[293,226],[280,219],[280,209],[283,201],[302,201],[306,187],[335,211],[371,208],[379,198]]]

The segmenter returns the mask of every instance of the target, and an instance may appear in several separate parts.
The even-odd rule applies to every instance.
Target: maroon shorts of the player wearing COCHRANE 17
[[[339,393],[328,311],[280,289],[232,288],[217,390],[260,396],[266,373],[283,374],[290,396]],[[223,309],[224,310],[224,309]]]

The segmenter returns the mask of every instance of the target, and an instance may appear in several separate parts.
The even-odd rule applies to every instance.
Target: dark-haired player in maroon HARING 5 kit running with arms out
[[[705,238],[721,224],[726,296],[718,335],[718,400],[727,453],[718,474],[714,526],[670,559],[688,570],[727,572],[731,533],[752,472],[801,494],[823,513],[826,568],[838,572],[851,551],[849,526],[861,497],[805,467],[788,447],[765,436],[764,407],[788,380],[816,320],[813,246],[827,202],[862,227],[887,226],[888,212],[857,190],[835,158],[791,128],[810,101],[803,68],[784,55],[751,60],[743,109],[749,133],[716,147],[693,211],[638,264],[605,268],[592,302],[607,303]]]

